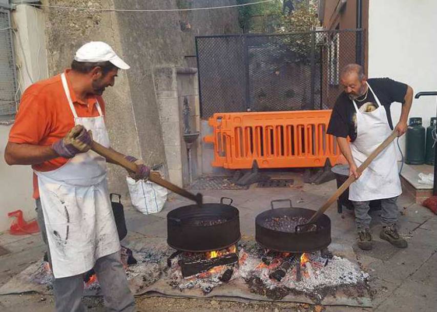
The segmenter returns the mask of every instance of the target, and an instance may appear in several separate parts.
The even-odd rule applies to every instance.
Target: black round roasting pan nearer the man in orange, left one
[[[228,204],[223,201],[227,199]],[[240,238],[238,209],[232,199],[222,197],[220,203],[179,207],[167,215],[167,243],[186,252],[209,252],[227,248]],[[202,220],[226,220],[220,224],[199,225]]]

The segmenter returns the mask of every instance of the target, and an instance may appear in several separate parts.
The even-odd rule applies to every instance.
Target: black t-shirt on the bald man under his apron
[[[370,78],[367,80],[373,92],[377,95],[387,112],[388,124],[393,130],[393,122],[391,121],[390,105],[392,102],[404,103],[405,94],[407,92],[407,85],[402,82],[394,81],[390,78]],[[367,92],[367,96],[360,97],[355,100],[358,109],[363,105],[373,105],[378,107],[376,100],[373,97],[370,89]],[[353,142],[357,138],[357,116],[353,102],[349,96],[342,92],[337,98],[334,109],[332,109],[331,119],[329,120],[329,126],[327,133],[337,137],[347,137]]]

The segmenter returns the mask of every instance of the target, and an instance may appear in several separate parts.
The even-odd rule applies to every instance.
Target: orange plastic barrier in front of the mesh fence
[[[214,144],[213,167],[259,168],[323,167],[335,164],[340,149],[326,134],[331,110],[217,113],[209,119]]]

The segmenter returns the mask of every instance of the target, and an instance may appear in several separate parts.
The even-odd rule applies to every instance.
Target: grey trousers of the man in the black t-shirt
[[[398,222],[398,197],[381,199],[381,223],[383,226]],[[369,229],[372,218],[369,216],[370,201],[352,201],[355,208],[355,223],[357,230]]]

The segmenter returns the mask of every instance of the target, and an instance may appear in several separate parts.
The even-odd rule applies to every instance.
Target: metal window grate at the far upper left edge
[[[17,89],[11,16],[0,8],[0,116],[16,113]]]

